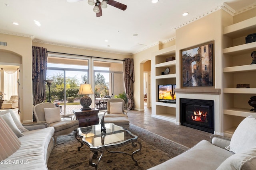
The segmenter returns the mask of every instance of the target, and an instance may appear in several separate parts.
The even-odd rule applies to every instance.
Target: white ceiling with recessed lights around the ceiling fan
[[[232,14],[256,6],[256,0],[116,1],[127,9],[108,5],[96,17],[87,0],[0,0],[0,32],[29,36],[37,42],[134,54],[174,39],[175,29],[220,9],[224,2]],[[189,15],[182,16],[184,12]]]

